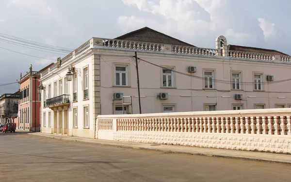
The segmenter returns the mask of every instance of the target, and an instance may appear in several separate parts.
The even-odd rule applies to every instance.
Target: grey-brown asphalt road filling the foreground
[[[1,182],[290,182],[291,165],[0,133]]]

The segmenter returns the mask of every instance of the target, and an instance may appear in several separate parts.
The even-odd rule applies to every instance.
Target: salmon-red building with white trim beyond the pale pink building
[[[49,66],[40,71],[32,71],[31,66],[30,71],[26,75],[22,76],[20,74],[20,98],[18,105],[19,130],[40,131],[41,97],[37,93],[37,87],[40,84],[40,73]]]

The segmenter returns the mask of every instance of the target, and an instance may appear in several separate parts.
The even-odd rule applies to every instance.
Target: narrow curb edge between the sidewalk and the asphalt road
[[[209,157],[220,157],[220,158],[229,158],[229,159],[243,159],[243,160],[251,160],[251,161],[259,161],[259,162],[272,162],[272,163],[282,163],[291,165],[291,162],[288,161],[281,161],[281,160],[271,160],[271,159],[260,159],[256,157],[239,157],[239,156],[229,156],[229,155],[219,155],[213,153],[202,153],[202,152],[185,152],[180,150],[171,150],[171,149],[159,149],[159,148],[145,148],[145,147],[137,147],[132,145],[123,145],[123,144],[111,144],[111,143],[97,143],[92,141],[80,140],[80,139],[72,139],[72,138],[65,138],[65,137],[58,137],[58,136],[47,136],[41,134],[35,134],[34,132],[28,132],[27,134],[40,136],[40,137],[47,137],[59,140],[67,140],[67,141],[74,141],[74,142],[83,142],[83,143],[90,143],[90,144],[97,144],[97,145],[107,145],[107,146],[115,146],[121,148],[129,148],[129,149],[144,149],[144,150],[156,150],[162,152],[169,152],[169,153],[180,153],[180,154],[187,154],[187,155],[201,155],[201,156],[209,156]]]

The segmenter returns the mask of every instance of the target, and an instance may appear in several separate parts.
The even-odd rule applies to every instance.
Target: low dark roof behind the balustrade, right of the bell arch
[[[277,50],[267,50],[262,48],[252,48],[252,47],[244,47],[244,46],[236,46],[236,45],[227,45],[227,50],[235,50],[235,51],[243,51],[243,52],[256,52],[256,53],[263,53],[263,54],[276,54],[276,55],[285,55],[283,52],[279,52]]]

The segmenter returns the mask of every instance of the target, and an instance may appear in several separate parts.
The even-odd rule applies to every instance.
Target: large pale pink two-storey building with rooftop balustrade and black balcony
[[[147,27],[91,38],[42,73],[42,132],[94,138],[96,116],[138,114],[135,51],[143,114],[291,107],[289,55],[227,45],[224,36],[215,45]]]

